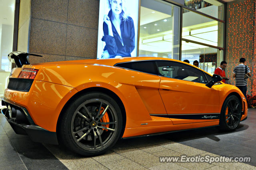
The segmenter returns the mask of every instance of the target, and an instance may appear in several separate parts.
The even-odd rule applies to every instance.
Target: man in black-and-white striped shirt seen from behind
[[[246,98],[247,92],[247,79],[244,78],[245,74],[252,76],[248,66],[244,65],[245,58],[240,58],[240,64],[234,68],[233,77],[236,78],[236,87],[238,87]]]

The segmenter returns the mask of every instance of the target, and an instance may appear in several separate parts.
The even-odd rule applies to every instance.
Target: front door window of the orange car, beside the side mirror
[[[156,66],[161,76],[204,84],[208,82],[201,70],[187,64],[171,61],[156,61]]]

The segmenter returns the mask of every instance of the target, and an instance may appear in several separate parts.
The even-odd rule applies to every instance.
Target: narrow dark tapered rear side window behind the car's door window
[[[116,67],[128,68],[139,72],[146,72],[150,74],[158,74],[156,70],[156,64],[154,61],[135,61],[118,63]]]

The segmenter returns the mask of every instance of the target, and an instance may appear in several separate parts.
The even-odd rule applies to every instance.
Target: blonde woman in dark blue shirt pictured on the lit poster
[[[126,0],[107,0],[110,11],[104,15],[101,58],[130,57],[135,48],[134,22],[126,13]]]

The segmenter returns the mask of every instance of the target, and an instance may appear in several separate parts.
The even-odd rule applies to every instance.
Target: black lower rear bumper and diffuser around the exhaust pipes
[[[6,120],[12,126],[12,129],[16,134],[28,135],[34,142],[58,144],[56,132],[50,132],[34,124],[26,108],[14,104],[3,97],[1,97],[1,100],[4,101],[7,108],[15,108],[16,110],[19,110],[19,112],[24,115],[22,118],[26,119],[25,121],[24,119],[18,120],[17,117],[13,117],[15,115],[10,114],[8,109],[1,110],[2,114],[5,116]]]

